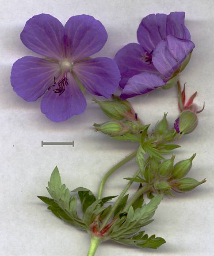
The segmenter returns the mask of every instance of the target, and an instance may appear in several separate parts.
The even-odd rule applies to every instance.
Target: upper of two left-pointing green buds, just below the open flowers
[[[136,120],[133,109],[127,100],[122,101],[117,98],[113,101],[98,101],[95,98],[93,100],[99,104],[101,110],[112,119],[122,120],[123,118],[127,118]]]

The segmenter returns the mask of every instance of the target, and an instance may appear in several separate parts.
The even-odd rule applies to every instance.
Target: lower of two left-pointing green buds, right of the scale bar
[[[94,123],[95,130],[101,131],[103,134],[113,136],[123,135],[129,131],[129,128],[124,126],[121,122],[108,121],[102,124]]]

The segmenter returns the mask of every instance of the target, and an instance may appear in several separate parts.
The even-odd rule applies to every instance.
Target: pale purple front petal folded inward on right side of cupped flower
[[[190,40],[168,35],[153,52],[153,64],[164,77],[171,77],[194,47]]]

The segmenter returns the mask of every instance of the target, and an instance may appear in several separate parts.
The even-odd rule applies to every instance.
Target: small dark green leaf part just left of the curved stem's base
[[[78,192],[78,196],[82,204],[83,213],[90,205],[92,205],[93,202],[96,201],[96,197],[89,189],[78,187],[74,189],[72,192]]]

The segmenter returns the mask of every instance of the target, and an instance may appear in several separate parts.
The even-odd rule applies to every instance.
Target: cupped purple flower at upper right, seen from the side
[[[138,27],[139,43],[129,43],[115,55],[122,99],[164,86],[195,47],[184,26],[185,12],[150,14]]]

